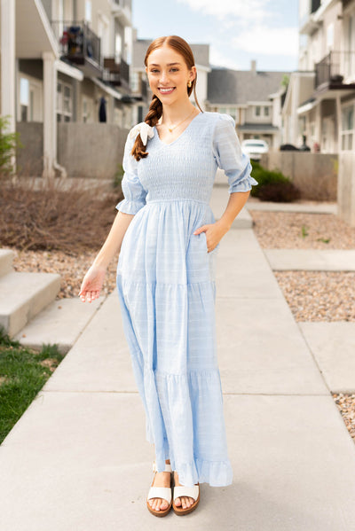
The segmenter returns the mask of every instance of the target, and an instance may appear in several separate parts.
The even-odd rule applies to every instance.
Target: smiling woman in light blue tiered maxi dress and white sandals
[[[233,118],[202,112],[189,99],[194,90],[197,101],[189,45],[176,35],[155,39],[145,64],[153,98],[126,141],[125,199],[79,295],[99,297],[120,250],[122,323],[155,449],[146,504],[156,516],[171,506],[182,515],[199,503],[201,482],[233,480],[217,366],[215,260],[257,182]],[[225,169],[230,198],[216,222],[209,198],[217,167]]]

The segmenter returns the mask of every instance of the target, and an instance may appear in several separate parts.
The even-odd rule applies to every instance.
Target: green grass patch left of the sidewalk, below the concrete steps
[[[0,444],[63,357],[57,345],[43,345],[37,352],[21,347],[0,329]]]

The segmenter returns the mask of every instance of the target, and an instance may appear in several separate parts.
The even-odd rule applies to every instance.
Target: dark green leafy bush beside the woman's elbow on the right
[[[291,202],[300,199],[301,193],[295,184],[279,171],[263,168],[256,161],[252,161],[251,175],[256,179],[257,186],[253,186],[250,194],[262,201]]]

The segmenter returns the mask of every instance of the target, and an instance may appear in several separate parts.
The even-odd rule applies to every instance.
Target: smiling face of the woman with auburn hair
[[[195,73],[195,66],[189,70],[183,56],[166,45],[152,51],[147,59],[149,85],[162,105],[188,99],[187,83],[193,81]]]

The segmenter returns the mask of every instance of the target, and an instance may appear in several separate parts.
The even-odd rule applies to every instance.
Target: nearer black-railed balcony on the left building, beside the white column
[[[51,27],[59,42],[60,59],[74,63],[88,77],[102,75],[100,39],[86,22],[52,20]]]

